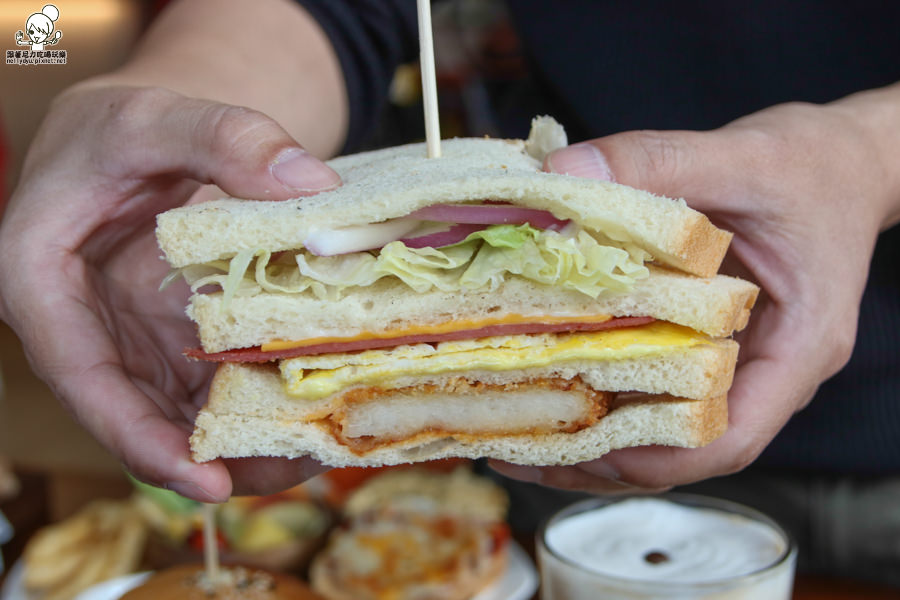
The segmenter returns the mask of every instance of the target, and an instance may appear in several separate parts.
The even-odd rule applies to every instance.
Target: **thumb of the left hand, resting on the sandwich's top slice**
[[[310,195],[341,184],[334,170],[263,113],[158,89],[123,94],[120,118],[110,126],[124,131],[105,138],[121,140],[110,157],[110,168],[122,170],[114,176],[186,175],[256,200]]]

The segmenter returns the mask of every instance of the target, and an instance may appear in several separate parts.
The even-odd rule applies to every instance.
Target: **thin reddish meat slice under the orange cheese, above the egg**
[[[432,344],[437,342],[449,342],[455,340],[468,340],[498,335],[527,335],[534,333],[564,333],[571,331],[602,331],[604,329],[616,329],[619,327],[638,327],[655,321],[653,317],[617,317],[602,323],[502,323],[489,325],[478,329],[463,329],[448,333],[424,333],[404,335],[399,337],[375,338],[369,340],[352,340],[348,342],[328,342],[325,344],[313,344],[299,348],[286,348],[284,350],[270,350],[263,352],[259,346],[253,348],[237,348],[224,352],[208,353],[201,348],[187,348],[185,356],[197,360],[210,362],[250,362],[263,363],[273,360],[283,360],[296,356],[309,356],[312,354],[332,354],[344,352],[359,352],[362,350],[375,350],[379,348],[391,348],[404,344]]]

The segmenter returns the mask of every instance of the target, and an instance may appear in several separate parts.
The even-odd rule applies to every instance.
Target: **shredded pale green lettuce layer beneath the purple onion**
[[[649,255],[633,244],[597,238],[584,230],[556,232],[530,225],[493,225],[442,248],[408,248],[400,241],[380,252],[313,256],[246,250],[230,262],[190,267],[183,274],[194,291],[218,285],[225,302],[260,291],[309,291],[335,299],[352,287],[396,277],[417,292],[495,289],[510,276],[577,290],[596,298],[603,290],[627,290],[647,277]]]

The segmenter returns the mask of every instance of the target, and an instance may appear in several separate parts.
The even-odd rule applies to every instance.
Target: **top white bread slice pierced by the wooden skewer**
[[[504,200],[574,219],[588,230],[630,240],[659,264],[709,277],[729,232],[684,200],[624,185],[541,171],[521,140],[452,139],[442,157],[410,144],[336,158],[344,185],[284,202],[223,199],[167,211],[157,238],[173,267],[234,256],[240,250],[296,250],[312,233],[402,217],[435,203]]]

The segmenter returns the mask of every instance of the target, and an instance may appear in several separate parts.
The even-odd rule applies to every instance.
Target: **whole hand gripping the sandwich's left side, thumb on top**
[[[0,318],[74,418],[135,476],[223,501],[321,467],[190,460],[212,370],[181,355],[196,344],[189,292],[159,292],[168,267],[154,217],[202,193],[201,184],[279,200],[340,179],[249,109],[101,82],[68,90],[38,131],[0,224]]]

